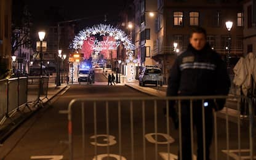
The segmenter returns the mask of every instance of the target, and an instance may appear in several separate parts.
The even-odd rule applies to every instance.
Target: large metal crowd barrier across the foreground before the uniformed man
[[[169,103],[177,101],[178,126],[182,125],[181,103],[186,100],[190,108],[201,107],[202,139],[206,159],[206,115],[205,102],[224,96],[204,97],[136,97],[136,98],[79,98],[68,105],[68,144],[70,159],[182,159],[182,127],[175,129],[169,117]],[[236,97],[238,98],[238,97]],[[245,98],[245,97],[239,97]],[[193,106],[194,101],[202,106]],[[235,113],[237,124],[229,121],[228,106],[219,112],[213,111],[213,138],[210,148],[211,159],[255,159],[255,126],[252,102],[249,118],[240,119]],[[235,104],[240,110],[239,103]],[[162,109],[166,108],[166,116]],[[172,114],[172,113],[170,113]],[[191,156],[196,159],[193,110],[190,110]],[[187,159],[185,159],[187,160]]]

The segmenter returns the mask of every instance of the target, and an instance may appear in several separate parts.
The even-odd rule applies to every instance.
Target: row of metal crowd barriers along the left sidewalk
[[[0,81],[0,125],[4,124],[7,118],[12,117],[17,111],[22,113],[20,108],[28,103],[39,103],[47,98],[49,77],[19,77],[4,79]],[[48,98],[47,98],[48,99]]]

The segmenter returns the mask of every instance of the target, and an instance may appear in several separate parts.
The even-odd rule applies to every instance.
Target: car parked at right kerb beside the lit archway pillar
[[[162,86],[162,70],[156,67],[144,67],[140,75],[138,76],[140,86],[145,84],[159,84]]]

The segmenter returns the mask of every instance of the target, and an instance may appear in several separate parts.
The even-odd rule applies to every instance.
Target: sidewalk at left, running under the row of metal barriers
[[[43,105],[50,105],[50,100],[55,97],[55,95],[59,94],[64,90],[67,85],[62,84],[61,86],[56,87],[56,84],[54,82],[49,81],[48,86],[48,92],[47,92],[47,98],[44,98],[42,100]],[[9,137],[12,132],[14,132],[15,129],[17,129],[20,124],[25,122],[30,116],[32,116],[36,111],[40,110],[41,107],[38,107],[36,103],[28,103],[28,106],[22,106],[20,108],[20,111],[17,111],[14,113],[14,115],[11,118],[7,118],[6,121],[2,126],[0,126],[0,144],[6,140],[6,138]]]

